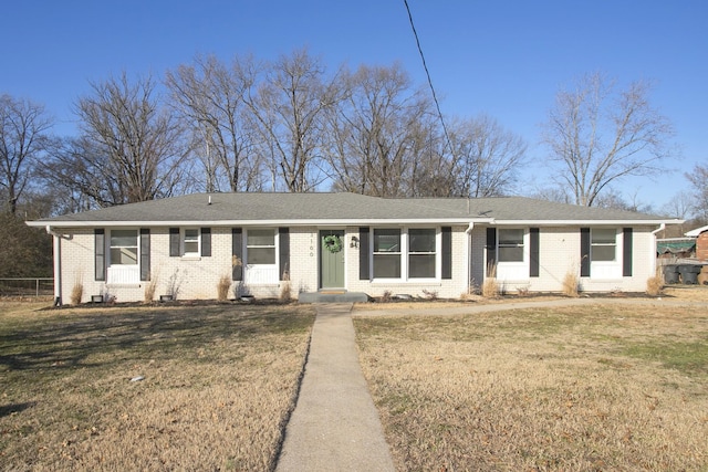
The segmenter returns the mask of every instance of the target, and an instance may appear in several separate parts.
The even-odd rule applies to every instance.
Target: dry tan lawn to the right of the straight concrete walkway
[[[705,310],[377,315],[355,327],[398,470],[708,468]]]

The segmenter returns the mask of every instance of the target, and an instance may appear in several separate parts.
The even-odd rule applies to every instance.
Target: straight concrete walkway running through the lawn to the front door
[[[352,305],[317,305],[277,471],[394,471],[354,344]]]

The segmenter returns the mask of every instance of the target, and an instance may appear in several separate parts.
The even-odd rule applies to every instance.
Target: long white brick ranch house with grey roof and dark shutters
[[[355,193],[211,193],[29,222],[54,237],[55,296],[142,301],[322,290],[459,297],[496,268],[504,291],[643,292],[655,274],[647,214],[520,197],[383,199]],[[150,282],[152,281],[152,282]],[[288,281],[285,283],[285,281]]]

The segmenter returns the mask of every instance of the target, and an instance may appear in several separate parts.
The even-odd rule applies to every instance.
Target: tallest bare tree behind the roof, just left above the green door
[[[339,96],[321,61],[300,50],[271,64],[258,93],[247,98],[272,177],[289,191],[310,191],[324,179],[319,153],[323,114]]]

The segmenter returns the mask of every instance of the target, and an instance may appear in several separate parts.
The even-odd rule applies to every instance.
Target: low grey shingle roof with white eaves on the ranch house
[[[210,201],[210,203],[209,203]],[[38,220],[32,225],[178,222],[645,221],[664,218],[523,197],[384,199],[357,193],[195,193]]]

